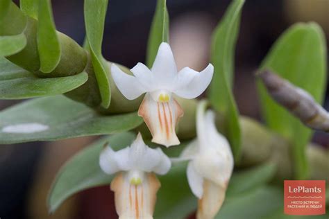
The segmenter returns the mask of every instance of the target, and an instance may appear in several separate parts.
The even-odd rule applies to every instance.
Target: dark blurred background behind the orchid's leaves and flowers
[[[144,62],[155,0],[110,0],[103,39],[106,59],[133,67]],[[167,0],[170,44],[178,68],[203,69],[209,62],[210,35],[228,0]],[[53,0],[58,30],[83,43],[82,0]],[[235,58],[235,98],[241,114],[260,118],[253,73],[277,37],[298,21],[317,21],[329,39],[329,0],[246,0]],[[327,40],[328,43],[328,40]],[[328,91],[327,91],[328,92]],[[18,101],[0,100],[0,109]],[[329,109],[329,95],[325,100]],[[108,186],[84,191],[47,214],[46,198],[58,168],[92,137],[0,147],[0,218],[116,218]],[[313,141],[329,147],[329,135]]]

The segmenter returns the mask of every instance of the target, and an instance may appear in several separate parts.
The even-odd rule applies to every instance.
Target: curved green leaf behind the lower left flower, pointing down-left
[[[74,193],[94,186],[110,184],[112,175],[103,173],[99,167],[99,155],[104,144],[109,143],[113,150],[119,150],[130,145],[133,139],[135,134],[130,132],[104,137],[67,161],[58,172],[49,193],[49,212],[56,211],[60,204]],[[108,192],[110,193],[110,189]]]

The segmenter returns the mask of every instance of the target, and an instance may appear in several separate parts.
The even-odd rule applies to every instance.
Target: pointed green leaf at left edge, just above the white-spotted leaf
[[[22,99],[64,94],[88,80],[85,72],[62,78],[37,78],[33,73],[0,58],[0,99]]]

